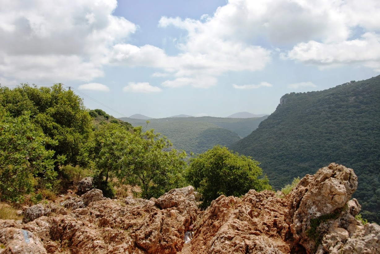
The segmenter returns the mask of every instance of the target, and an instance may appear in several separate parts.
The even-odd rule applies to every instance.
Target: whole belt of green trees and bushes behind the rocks
[[[213,134],[207,133],[212,131],[204,128],[201,146],[209,147],[207,137]],[[218,135],[223,131],[230,132],[222,129]],[[101,109],[86,109],[82,99],[61,84],[14,89],[0,85],[0,150],[0,201],[19,207],[54,200],[86,176],[111,198],[128,196],[128,186],[138,187],[133,195],[150,199],[192,183],[207,197],[201,199],[204,206],[231,191],[242,195],[250,188],[271,189],[252,158],[220,146],[189,157],[152,128],[132,127]],[[218,188],[215,181],[220,180],[204,174],[207,169],[199,164],[205,162],[214,164],[214,176],[231,188]],[[246,176],[240,177],[242,186],[236,185],[236,172]],[[230,177],[223,178],[226,175]],[[206,193],[209,188],[215,191]]]

